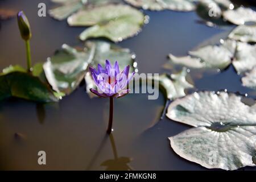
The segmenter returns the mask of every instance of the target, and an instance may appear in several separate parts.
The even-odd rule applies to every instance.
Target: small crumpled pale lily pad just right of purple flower
[[[163,74],[158,78],[149,77],[148,79],[154,80],[159,83],[159,87],[163,89],[164,95],[168,100],[174,100],[175,98],[185,96],[185,89],[193,88],[192,84],[186,80],[187,69],[183,68],[180,73],[177,74]]]

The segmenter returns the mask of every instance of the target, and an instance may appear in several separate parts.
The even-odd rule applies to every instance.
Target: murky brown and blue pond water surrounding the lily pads
[[[69,27],[49,15],[39,18],[38,3],[50,1],[6,0],[1,8],[23,10],[32,27],[32,61],[45,61],[63,43],[82,46],[78,39],[82,27]],[[210,37],[226,30],[197,23],[195,12],[144,11],[150,23],[134,38],[118,43],[137,55],[139,72],[176,72],[163,69],[168,53],[186,53]],[[232,27],[229,28],[231,30]],[[26,66],[24,42],[20,38],[16,19],[1,22],[0,69],[10,64]],[[239,91],[256,98],[253,90],[241,86],[241,76],[232,65],[223,72],[191,71],[190,80],[196,90]],[[192,92],[193,90],[187,90]],[[70,170],[204,170],[199,164],[176,155],[167,137],[189,128],[160,120],[164,96],[147,100],[147,94],[129,94],[114,101],[114,132],[106,137],[109,100],[90,99],[85,84],[55,104],[36,104],[11,99],[0,102],[0,169],[70,169]],[[46,151],[47,165],[38,165],[38,151]],[[243,168],[254,169],[254,168]]]

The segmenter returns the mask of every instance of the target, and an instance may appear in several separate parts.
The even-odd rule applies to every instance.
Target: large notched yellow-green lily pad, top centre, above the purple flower
[[[91,26],[80,34],[81,40],[107,38],[113,42],[137,35],[144,23],[141,11],[128,5],[88,7],[69,16],[69,26]]]

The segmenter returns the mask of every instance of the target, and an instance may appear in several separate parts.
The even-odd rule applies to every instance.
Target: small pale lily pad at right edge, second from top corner
[[[256,42],[256,23],[253,25],[240,25],[229,34],[230,39],[241,42]]]

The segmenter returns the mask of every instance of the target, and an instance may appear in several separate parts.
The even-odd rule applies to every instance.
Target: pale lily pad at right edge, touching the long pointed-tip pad
[[[237,42],[237,51],[233,65],[238,73],[250,71],[256,66],[256,45]]]

